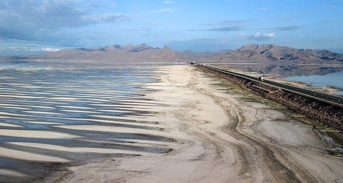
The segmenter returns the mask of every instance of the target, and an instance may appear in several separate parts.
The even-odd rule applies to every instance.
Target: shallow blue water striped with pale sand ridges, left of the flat
[[[154,67],[108,63],[0,64],[0,182],[41,179],[55,164],[163,153],[170,139],[145,120]]]

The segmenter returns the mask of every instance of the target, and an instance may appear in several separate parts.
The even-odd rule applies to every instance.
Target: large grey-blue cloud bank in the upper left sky
[[[108,7],[114,5],[108,2]],[[0,35],[5,39],[78,46],[75,40],[70,41],[67,29],[133,21],[125,13],[95,14],[92,10],[97,7],[97,1],[3,0],[0,2]]]

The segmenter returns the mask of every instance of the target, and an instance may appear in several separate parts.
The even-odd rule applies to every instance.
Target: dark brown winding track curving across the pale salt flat
[[[239,139],[240,142],[225,142],[224,139],[220,138],[216,138],[216,140],[212,140],[211,142],[215,144],[219,143],[222,145],[229,144],[230,146],[235,146],[235,151],[239,155],[239,161],[244,167],[240,170],[240,174],[253,175],[257,170],[261,171],[261,169],[264,169],[262,172],[265,175],[271,175],[272,180],[270,181],[273,182],[316,182],[315,178],[308,172],[302,170],[300,165],[295,162],[291,163],[291,161],[289,161],[291,157],[288,157],[286,152],[276,148],[275,146],[271,146],[260,139],[249,137],[247,133],[244,133],[244,130],[239,130],[241,126],[246,123],[244,112],[240,106],[234,103],[227,105],[229,101],[224,103],[223,101],[225,101],[225,98],[213,95],[204,88],[196,87],[196,78],[198,77],[200,76],[193,76],[191,83],[188,84],[187,87],[193,88],[193,90],[196,90],[196,92],[201,95],[210,97],[216,104],[220,105],[222,109],[226,111],[226,114],[232,122],[228,123],[221,130],[232,135],[236,139]],[[282,160],[279,160],[275,154],[277,154],[278,158],[283,157]],[[288,166],[292,167],[292,169],[288,168],[281,161],[287,161]],[[298,176],[303,179],[300,181]]]

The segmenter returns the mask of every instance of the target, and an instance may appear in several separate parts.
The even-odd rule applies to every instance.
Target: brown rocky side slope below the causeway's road
[[[263,83],[252,82],[237,76],[223,75],[214,71],[209,72],[225,78],[255,94],[261,95],[264,98],[280,103],[289,110],[305,115],[309,119],[320,122],[324,126],[332,127],[343,132],[343,109],[341,107],[293,94]]]

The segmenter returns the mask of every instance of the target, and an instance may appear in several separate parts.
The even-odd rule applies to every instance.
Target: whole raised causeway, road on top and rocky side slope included
[[[283,104],[288,109],[317,122],[343,131],[343,98],[306,90],[250,75],[211,67],[194,66],[213,72],[240,87],[251,90],[267,99]]]

